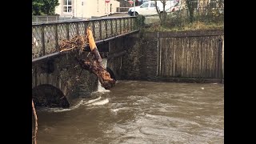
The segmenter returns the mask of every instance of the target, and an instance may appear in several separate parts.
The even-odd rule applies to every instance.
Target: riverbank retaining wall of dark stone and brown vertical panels
[[[139,35],[138,35],[139,36]],[[124,42],[122,79],[222,82],[224,31],[143,33]]]

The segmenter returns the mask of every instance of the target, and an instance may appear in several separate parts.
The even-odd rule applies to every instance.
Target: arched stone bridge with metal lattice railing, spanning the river
[[[138,37],[135,17],[52,22],[32,26],[32,98],[36,106],[69,107],[72,99],[98,88],[98,78],[82,70],[75,58],[86,58],[88,51],[59,52],[58,42],[85,34],[91,26],[106,67],[120,77],[122,54],[130,39]]]

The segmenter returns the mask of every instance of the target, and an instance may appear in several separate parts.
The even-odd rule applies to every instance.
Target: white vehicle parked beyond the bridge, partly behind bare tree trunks
[[[174,0],[173,1],[166,1],[165,9],[169,10],[171,7],[175,6],[175,4],[177,4],[177,2],[174,1]],[[157,1],[157,6],[158,6],[158,10],[160,12],[162,12],[163,11],[163,5],[162,5],[161,1]],[[154,1],[144,2],[141,6],[135,6],[135,10],[134,10],[134,7],[130,7],[130,9],[128,10],[128,14],[130,16],[133,16],[134,13],[135,13],[136,16],[138,14],[141,14],[141,15],[158,14]]]

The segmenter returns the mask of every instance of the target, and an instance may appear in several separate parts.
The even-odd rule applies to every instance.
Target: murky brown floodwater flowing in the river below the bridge
[[[118,81],[37,113],[38,144],[224,143],[223,84]]]

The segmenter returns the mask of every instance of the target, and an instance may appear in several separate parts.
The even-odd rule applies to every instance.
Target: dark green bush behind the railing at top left
[[[58,0],[32,0],[32,15],[54,15]]]

